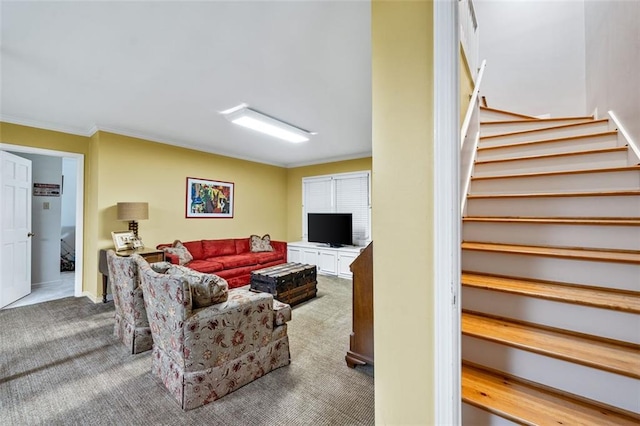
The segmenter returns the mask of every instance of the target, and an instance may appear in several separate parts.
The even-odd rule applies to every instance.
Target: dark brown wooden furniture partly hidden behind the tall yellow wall
[[[353,273],[353,328],[347,365],[373,365],[373,242],[351,263]]]

